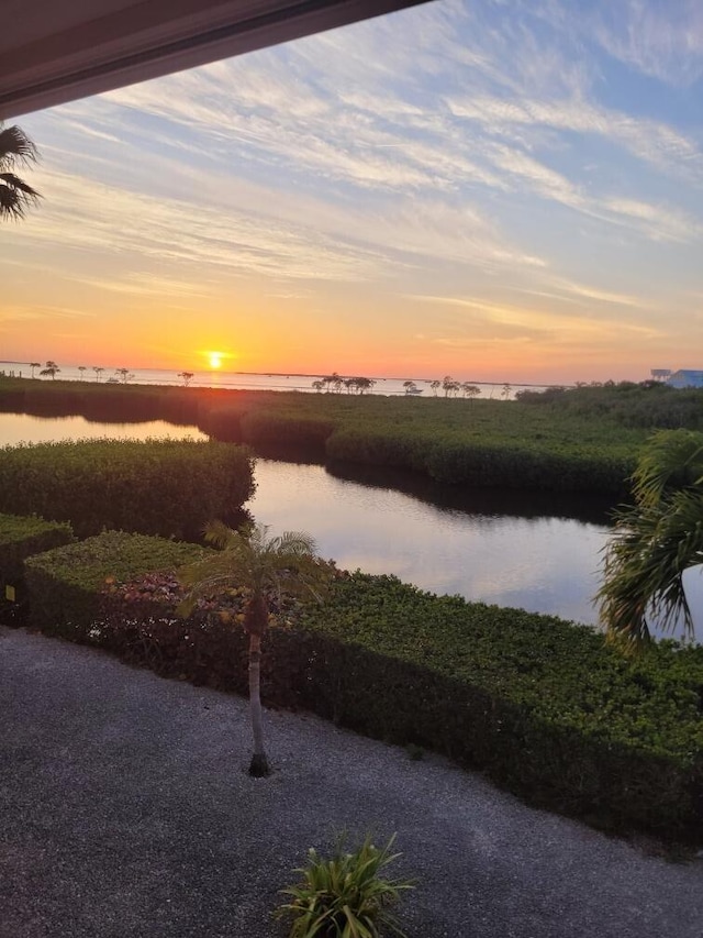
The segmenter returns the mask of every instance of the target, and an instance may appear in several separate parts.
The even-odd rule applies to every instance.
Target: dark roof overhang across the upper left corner
[[[426,0],[4,0],[0,120]]]

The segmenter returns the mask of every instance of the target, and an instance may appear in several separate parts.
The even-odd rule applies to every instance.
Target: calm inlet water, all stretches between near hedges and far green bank
[[[196,427],[163,421],[104,424],[0,413],[1,445],[163,435],[205,439]],[[309,531],[323,556],[348,570],[393,573],[435,593],[596,622],[592,597],[609,533],[602,503],[462,493],[398,473],[347,467],[355,477],[345,478],[341,472],[259,459],[257,490],[246,507],[274,530]],[[703,607],[698,572],[687,586],[692,605]]]

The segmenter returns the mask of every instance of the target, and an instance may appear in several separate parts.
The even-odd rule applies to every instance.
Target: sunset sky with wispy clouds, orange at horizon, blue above
[[[1,360],[703,368],[700,0],[436,0],[16,122]]]

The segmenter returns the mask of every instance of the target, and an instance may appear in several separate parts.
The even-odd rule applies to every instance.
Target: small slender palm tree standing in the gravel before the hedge
[[[269,537],[266,525],[232,530],[222,521],[205,528],[205,540],[220,551],[181,571],[188,596],[180,606],[189,615],[199,597],[210,597],[233,585],[248,592],[244,607],[244,630],[249,636],[249,708],[254,754],[249,774],[269,774],[264,747],[260,697],[261,638],[268,628],[269,596],[309,594],[321,600],[330,582],[330,567],[315,555],[315,542],[305,533],[286,531]]]

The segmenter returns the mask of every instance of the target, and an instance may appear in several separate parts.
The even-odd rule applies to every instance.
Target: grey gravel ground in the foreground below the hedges
[[[0,629],[1,938],[274,938],[309,847],[398,831],[410,938],[701,938],[703,863],[643,856],[446,761]]]

